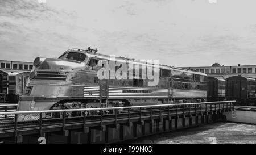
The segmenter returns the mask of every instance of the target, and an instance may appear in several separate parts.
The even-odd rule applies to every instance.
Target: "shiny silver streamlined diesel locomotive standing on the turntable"
[[[159,82],[150,86],[150,79],[141,76],[143,69],[147,70],[142,68],[146,62],[124,57],[115,57],[115,71],[122,66],[118,62],[140,68],[127,68],[127,73],[121,73],[127,74],[127,79],[99,79],[97,72],[104,67],[99,62],[110,63],[110,56],[96,52],[97,49],[90,48],[69,49],[59,58],[36,58],[18,111],[192,103],[207,99],[206,74],[152,64],[152,68],[158,67],[154,74],[159,74]],[[130,72],[138,72],[139,78]]]

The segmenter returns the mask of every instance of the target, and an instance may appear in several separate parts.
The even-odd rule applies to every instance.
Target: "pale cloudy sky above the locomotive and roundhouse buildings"
[[[0,60],[92,47],[172,66],[255,65],[256,1],[214,1],[0,0]]]

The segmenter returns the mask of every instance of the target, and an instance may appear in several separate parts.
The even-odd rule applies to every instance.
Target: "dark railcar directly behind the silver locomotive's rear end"
[[[207,78],[207,100],[222,101],[225,100],[226,81],[215,77]]]

